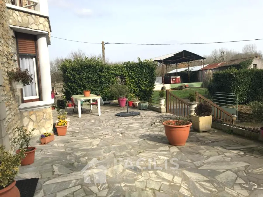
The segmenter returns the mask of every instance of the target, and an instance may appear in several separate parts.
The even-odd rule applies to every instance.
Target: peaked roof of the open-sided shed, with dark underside
[[[160,57],[152,58],[153,61],[164,63],[166,65],[169,64],[177,64],[183,62],[191,62],[196,60],[204,60],[205,57],[197,55],[187,50],[177,51],[175,53],[170,53],[167,55],[162,55]]]

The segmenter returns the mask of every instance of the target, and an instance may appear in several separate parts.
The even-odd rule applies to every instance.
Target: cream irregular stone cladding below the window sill
[[[34,135],[51,132],[53,129],[52,110],[50,108],[21,112],[21,121],[27,130],[35,128]]]

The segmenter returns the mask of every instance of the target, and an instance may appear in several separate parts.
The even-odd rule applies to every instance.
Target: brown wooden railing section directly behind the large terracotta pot
[[[189,107],[186,101],[166,90],[166,112],[177,116],[188,117]]]

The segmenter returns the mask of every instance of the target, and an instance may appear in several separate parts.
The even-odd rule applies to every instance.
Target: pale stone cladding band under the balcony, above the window
[[[34,14],[15,11],[10,8],[8,8],[8,14],[9,22],[11,25],[46,31],[49,32],[50,35],[49,20],[47,18]]]

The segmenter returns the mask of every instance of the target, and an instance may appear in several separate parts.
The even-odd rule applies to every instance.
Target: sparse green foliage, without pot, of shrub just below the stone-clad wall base
[[[12,143],[14,145],[19,145],[19,149],[25,150],[26,152],[31,151],[32,149],[29,149],[29,143],[31,141],[32,136],[34,135],[34,130],[31,129],[31,131],[27,132],[23,126],[16,127],[15,133],[17,133],[17,136],[13,139]]]

